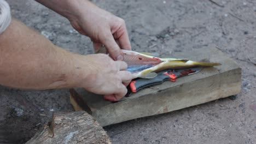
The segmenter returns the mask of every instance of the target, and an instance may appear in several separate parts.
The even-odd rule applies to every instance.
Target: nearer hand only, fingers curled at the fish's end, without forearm
[[[123,61],[113,61],[105,54],[83,56],[86,77],[79,80],[78,87],[84,87],[87,91],[104,94],[109,101],[118,101],[127,93],[126,86],[132,80],[132,74],[126,71],[127,64]]]

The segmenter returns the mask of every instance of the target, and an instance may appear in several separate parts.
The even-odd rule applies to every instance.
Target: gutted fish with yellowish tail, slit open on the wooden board
[[[99,51],[103,51],[101,48]],[[121,50],[123,61],[127,63],[127,71],[132,73],[133,79],[152,79],[159,71],[165,69],[183,69],[192,67],[214,67],[221,65],[212,62],[196,62],[182,58],[159,58],[146,52]],[[96,52],[98,53],[98,52]]]

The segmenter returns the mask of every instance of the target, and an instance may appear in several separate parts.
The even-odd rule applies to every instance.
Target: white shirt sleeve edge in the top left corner
[[[2,34],[5,29],[10,25],[11,22],[11,14],[9,4],[0,0],[0,34]]]

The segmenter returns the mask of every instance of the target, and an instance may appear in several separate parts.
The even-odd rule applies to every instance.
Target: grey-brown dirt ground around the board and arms
[[[93,53],[89,38],[32,0],[7,0],[13,17],[54,44],[83,55]],[[218,49],[242,68],[236,97],[163,115],[104,127],[113,143],[256,143],[256,1],[92,1],[122,17],[132,50],[159,53]],[[22,91],[0,87],[0,143],[24,143],[53,112],[73,111],[68,89]]]

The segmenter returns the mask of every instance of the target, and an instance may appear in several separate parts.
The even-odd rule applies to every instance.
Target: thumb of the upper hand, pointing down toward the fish
[[[115,39],[110,31],[103,38],[102,44],[106,46],[110,57],[112,57],[115,61],[123,61],[123,53],[121,52],[117,42],[115,42]]]

